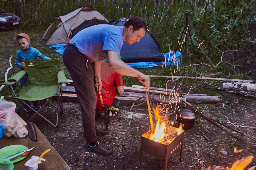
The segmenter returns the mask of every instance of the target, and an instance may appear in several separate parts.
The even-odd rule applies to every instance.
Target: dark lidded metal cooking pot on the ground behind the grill
[[[198,118],[197,114],[189,109],[180,109],[176,111],[176,121],[175,124],[179,127],[183,124],[183,130],[189,130],[194,126],[195,120]]]

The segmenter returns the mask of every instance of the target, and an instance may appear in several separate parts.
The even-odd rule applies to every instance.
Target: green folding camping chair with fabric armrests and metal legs
[[[27,122],[29,122],[36,114],[39,114],[51,125],[57,127],[59,111],[63,112],[61,84],[67,83],[67,79],[65,77],[64,72],[59,70],[59,59],[24,59],[23,62],[26,64],[24,70],[13,75],[11,78],[9,78],[9,80],[4,82],[3,84],[9,85],[9,87],[13,91],[14,98],[18,99],[22,103],[22,105],[28,106],[35,112],[35,114]],[[25,82],[20,92],[18,94],[15,94],[15,91],[11,85],[15,84],[26,73],[28,74],[28,80]],[[57,107],[50,102],[53,97],[57,97]],[[32,108],[27,102],[24,102],[24,100],[42,100],[46,101],[46,103],[44,103],[44,105],[41,108],[36,110]],[[42,101],[39,104],[41,104]],[[39,111],[48,103],[57,109],[56,125],[50,122],[48,119],[42,116],[42,114],[39,113]]]

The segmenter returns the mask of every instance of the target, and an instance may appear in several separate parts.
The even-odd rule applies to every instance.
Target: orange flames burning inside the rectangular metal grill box
[[[176,129],[176,131],[171,132],[168,129],[168,127],[170,126],[168,118],[164,114],[160,116],[160,110],[160,106],[154,108],[154,114],[156,116],[157,122],[154,129],[152,129],[151,133],[147,135],[147,138],[155,142],[168,145],[175,139],[175,137],[180,135],[184,130],[182,129],[181,124],[179,128]]]

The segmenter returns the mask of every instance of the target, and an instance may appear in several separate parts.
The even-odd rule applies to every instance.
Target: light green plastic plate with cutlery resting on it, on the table
[[[11,155],[11,154],[15,154],[17,152],[21,152],[22,150],[28,150],[28,148],[24,145],[10,145],[10,146],[6,146],[2,149],[0,149],[0,158],[3,158],[5,156]],[[20,160],[23,160],[24,158],[26,158],[26,156],[19,156],[17,158],[14,158],[13,160],[11,160],[12,163],[18,162]],[[8,159],[8,158],[7,158]]]

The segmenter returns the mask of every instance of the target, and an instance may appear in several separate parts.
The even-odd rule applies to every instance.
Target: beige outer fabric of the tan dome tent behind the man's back
[[[55,17],[54,22],[44,32],[41,41],[45,45],[64,44],[67,41],[67,36],[71,29],[75,29],[85,20],[92,18],[98,18],[108,22],[104,15],[96,9],[81,7],[66,15]]]

